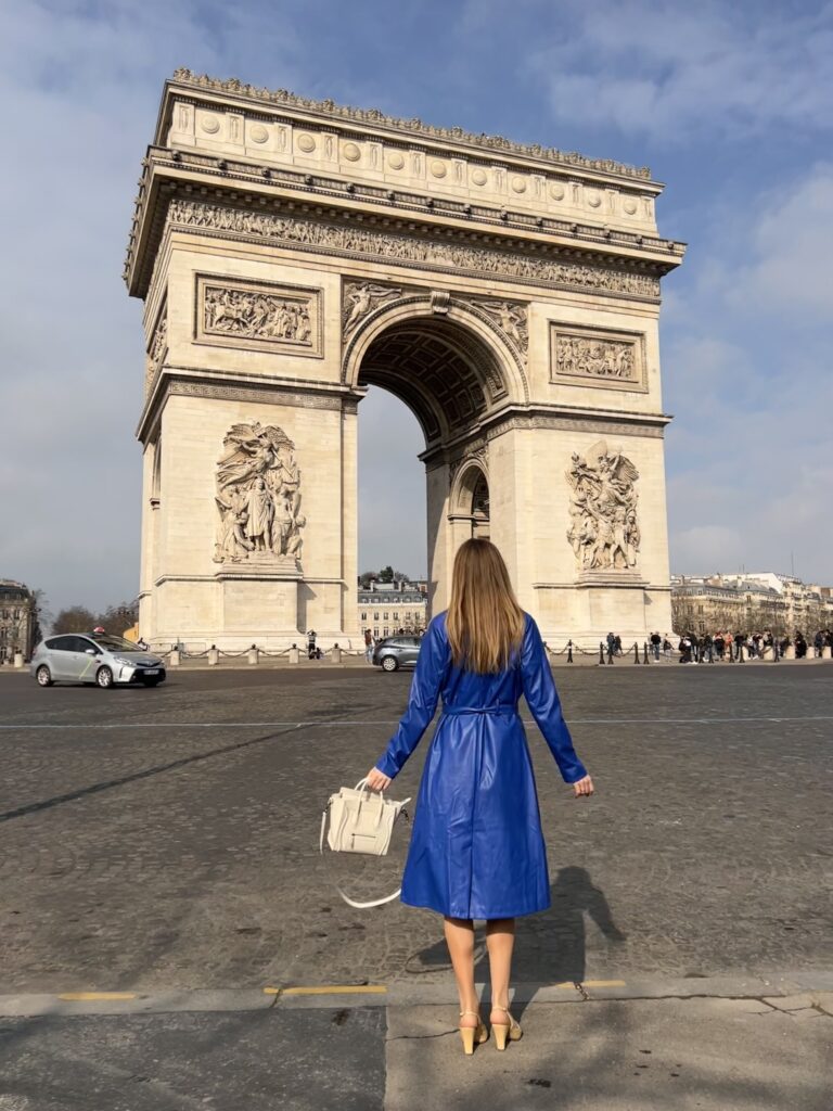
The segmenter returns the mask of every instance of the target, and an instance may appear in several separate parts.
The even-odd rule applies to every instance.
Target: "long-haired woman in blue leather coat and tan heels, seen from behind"
[[[521,694],[575,798],[593,781],[575,754],[534,620],[520,608],[489,540],[466,540],[454,560],[449,609],[431,621],[408,708],[368,785],[384,790],[434,717],[401,900],[443,915],[466,1054],[489,1038],[474,989],[474,919],[486,922],[495,1048],[521,1037],[509,1011],[515,918],[551,905],[546,849]]]

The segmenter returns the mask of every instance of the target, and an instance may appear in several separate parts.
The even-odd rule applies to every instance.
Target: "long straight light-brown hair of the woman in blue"
[[[458,667],[478,674],[502,671],[523,639],[503,557],[490,540],[466,540],[456,553],[445,629]]]

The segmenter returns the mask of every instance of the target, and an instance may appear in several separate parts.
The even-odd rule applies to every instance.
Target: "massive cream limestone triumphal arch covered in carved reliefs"
[[[144,301],[142,635],[359,642],[357,414],[425,433],[433,612],[470,536],[553,645],[671,627],[646,170],[178,71]]]

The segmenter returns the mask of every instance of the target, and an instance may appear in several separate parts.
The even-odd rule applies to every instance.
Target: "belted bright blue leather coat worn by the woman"
[[[526,614],[512,665],[479,675],[451,662],[445,614],[423,638],[408,709],[377,768],[393,778],[436,711],[425,757],[402,902],[452,918],[514,918],[550,907],[546,850],[529,748],[526,698],[565,782],[586,771],[561,714],[541,633]]]

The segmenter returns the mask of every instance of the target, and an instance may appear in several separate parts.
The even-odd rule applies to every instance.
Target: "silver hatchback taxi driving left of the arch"
[[[52,683],[142,683],[155,687],[165,678],[158,655],[109,633],[64,633],[48,637],[34,650],[29,674],[40,687]]]

